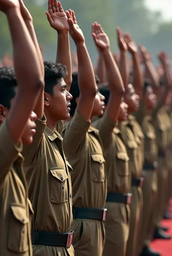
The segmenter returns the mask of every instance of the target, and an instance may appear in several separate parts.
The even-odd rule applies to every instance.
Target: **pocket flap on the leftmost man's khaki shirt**
[[[26,212],[26,208],[24,206],[12,205],[11,210],[13,212],[13,215],[15,216],[15,218],[17,220],[19,220],[19,222],[21,222],[22,224],[26,224],[26,223],[29,222],[27,212]]]

